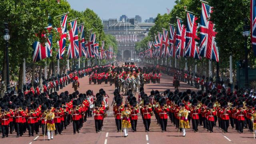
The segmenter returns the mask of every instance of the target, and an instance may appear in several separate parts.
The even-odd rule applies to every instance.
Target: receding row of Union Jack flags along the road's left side
[[[46,38],[45,43],[40,43],[38,41],[32,44],[33,48],[33,62],[43,60],[44,58],[49,58],[52,56],[52,35],[50,31],[52,30],[52,25],[48,23],[48,36],[42,34],[42,38]],[[67,24],[71,27],[67,30]],[[112,59],[113,48],[109,46],[108,50],[104,50],[104,41],[102,42],[102,47],[99,51],[99,42],[96,42],[96,33],[90,34],[90,40],[85,40],[84,36],[84,24],[77,24],[77,20],[72,20],[68,23],[68,14],[61,16],[61,25],[56,28],[60,35],[60,40],[57,42],[57,56],[56,59],[62,59],[66,50],[66,39],[70,41],[68,45],[67,55],[68,59],[77,59],[81,57],[85,58],[98,58],[102,59]],[[80,36],[80,40],[78,40]]]

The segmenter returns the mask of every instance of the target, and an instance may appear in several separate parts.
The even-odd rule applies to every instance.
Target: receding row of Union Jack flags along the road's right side
[[[181,58],[201,57],[219,62],[218,47],[216,46],[214,24],[210,21],[212,7],[202,3],[202,14],[200,24],[193,14],[187,12],[186,25],[177,18],[177,26],[169,24],[170,30],[163,29],[155,35],[154,42],[148,42],[148,50],[140,52],[141,58]],[[197,36],[197,29],[200,27],[200,34]],[[169,38],[168,38],[169,36]],[[198,44],[199,41],[199,44]]]

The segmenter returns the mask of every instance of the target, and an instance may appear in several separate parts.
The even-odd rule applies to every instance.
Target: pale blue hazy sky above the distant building
[[[171,10],[175,0],[67,0],[74,10],[92,9],[101,19],[118,18],[125,14],[128,18],[142,17],[142,22],[158,13]]]

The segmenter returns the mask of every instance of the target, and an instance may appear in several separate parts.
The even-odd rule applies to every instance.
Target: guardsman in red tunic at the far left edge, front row
[[[2,125],[2,138],[8,137],[9,134],[9,118],[10,118],[10,112],[7,112],[8,107],[2,109],[0,114],[0,120]]]

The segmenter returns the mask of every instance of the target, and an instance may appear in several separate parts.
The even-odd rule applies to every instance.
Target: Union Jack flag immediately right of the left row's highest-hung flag
[[[68,46],[68,59],[79,57],[79,45],[78,45],[78,30],[77,21],[70,22],[71,26],[69,30],[70,44]]]

